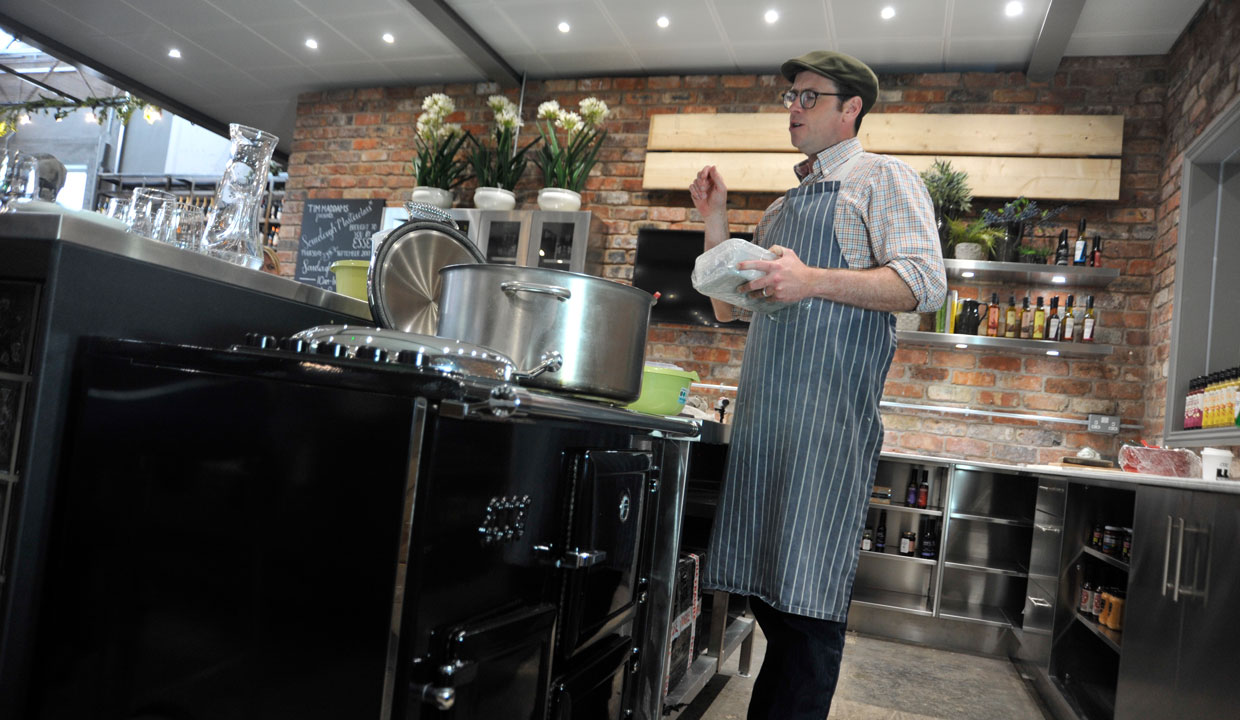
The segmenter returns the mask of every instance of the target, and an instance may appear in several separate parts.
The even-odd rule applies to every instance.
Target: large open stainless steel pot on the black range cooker
[[[641,394],[646,328],[655,299],[593,275],[515,265],[440,271],[435,335],[495,348],[518,367],[558,352],[563,366],[523,384],[631,402]]]

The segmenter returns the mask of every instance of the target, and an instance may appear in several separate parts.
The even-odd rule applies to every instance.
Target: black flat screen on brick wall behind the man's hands
[[[729,237],[753,239],[753,233],[732,233]],[[641,228],[637,230],[637,254],[632,268],[632,284],[653,295],[658,302],[650,309],[651,322],[704,325],[707,327],[748,327],[749,322],[714,318],[711,299],[693,289],[691,276],[697,257],[702,254],[702,230],[668,230]]]

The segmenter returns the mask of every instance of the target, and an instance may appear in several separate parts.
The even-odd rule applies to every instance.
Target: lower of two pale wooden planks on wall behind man
[[[796,152],[647,152],[646,190],[687,190],[697,172],[715,165],[728,190],[785,192],[796,186]],[[898,155],[919,172],[931,155]],[[1118,200],[1120,160],[1095,157],[942,156],[968,173],[975,197],[1033,200]]]

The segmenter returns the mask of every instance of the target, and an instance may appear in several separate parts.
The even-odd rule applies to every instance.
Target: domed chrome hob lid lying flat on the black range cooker
[[[357,325],[321,325],[294,335],[312,346],[335,342],[346,348],[346,357],[372,362],[388,362],[458,377],[486,378],[510,382],[516,366],[506,356],[482,346],[435,337]],[[363,352],[377,348],[382,353]]]

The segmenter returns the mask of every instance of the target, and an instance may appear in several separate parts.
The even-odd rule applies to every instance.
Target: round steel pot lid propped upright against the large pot
[[[455,227],[410,219],[388,233],[374,252],[366,281],[371,316],[386,328],[433,337],[443,290],[439,269],[485,261]]]

